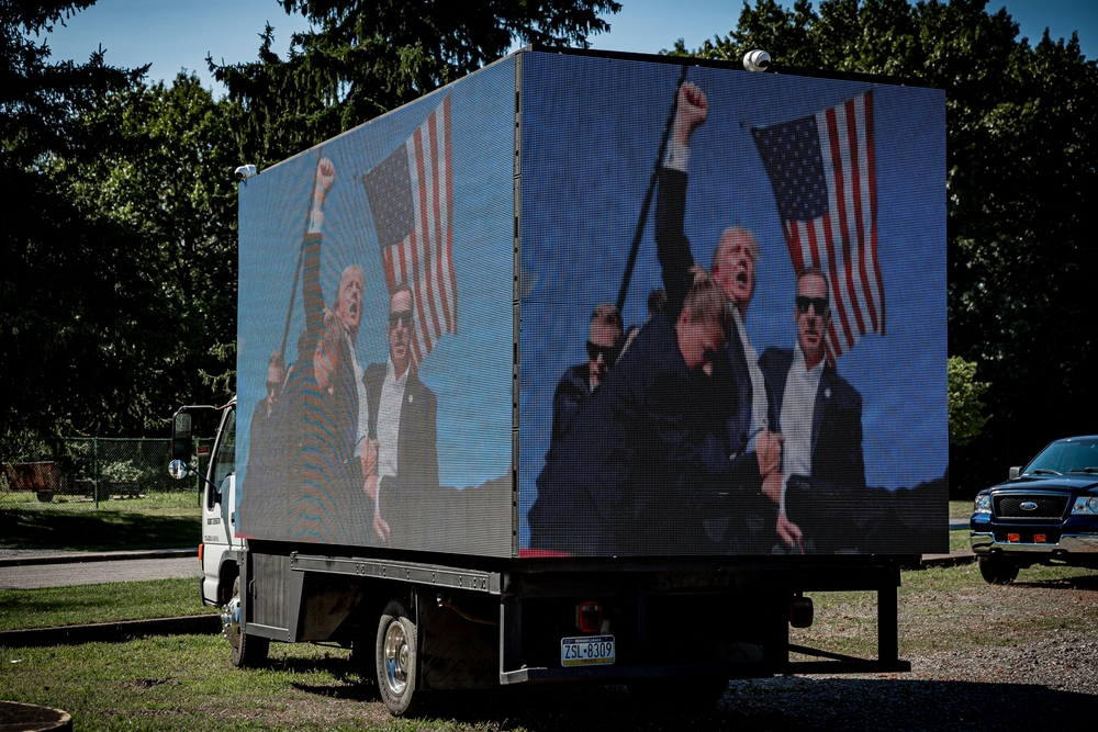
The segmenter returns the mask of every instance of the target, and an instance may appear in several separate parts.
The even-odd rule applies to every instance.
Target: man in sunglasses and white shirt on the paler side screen
[[[374,474],[367,475],[373,536],[396,549],[423,545],[426,513],[438,493],[437,401],[413,363],[414,316],[412,291],[402,284],[389,301],[389,361],[371,363],[363,378],[374,452],[368,460]]]

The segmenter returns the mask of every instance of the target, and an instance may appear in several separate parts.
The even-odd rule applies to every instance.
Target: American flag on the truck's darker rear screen
[[[816,266],[827,273],[833,363],[865,334],[885,333],[872,92],[751,135],[774,188],[794,270]]]

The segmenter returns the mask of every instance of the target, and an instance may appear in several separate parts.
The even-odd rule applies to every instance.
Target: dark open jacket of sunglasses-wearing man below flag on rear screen
[[[778,430],[793,358],[793,350],[786,348],[768,348],[759,358],[766,382],[770,421]],[[786,513],[811,540],[816,551],[852,549],[859,532],[853,530],[851,520],[865,496],[862,396],[830,363],[825,363],[816,390],[810,448],[813,473],[789,478]]]

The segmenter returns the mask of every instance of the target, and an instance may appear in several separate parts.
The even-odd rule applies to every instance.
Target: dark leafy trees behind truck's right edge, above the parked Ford
[[[688,52],[776,67],[886,74],[946,92],[950,352],[979,364],[994,421],[951,453],[973,488],[1056,437],[1093,432],[1098,331],[1085,252],[1098,227],[1098,67],[1069,41],[1030,45],[985,0],[744,5]],[[972,381],[974,376],[970,378]],[[957,443],[954,442],[956,446]]]

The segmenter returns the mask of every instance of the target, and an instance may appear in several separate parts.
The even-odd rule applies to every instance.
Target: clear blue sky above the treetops
[[[783,4],[792,5],[792,0]],[[595,48],[656,53],[683,38],[695,48],[736,26],[742,2],[737,0],[623,0],[621,12],[609,16],[610,32],[595,36]],[[1006,7],[1035,43],[1047,26],[1053,38],[1079,34],[1087,58],[1098,56],[1098,2],[1094,0],[990,0],[988,8]],[[175,77],[180,68],[197,71],[206,85],[205,56],[239,63],[256,58],[259,33],[270,22],[274,49],[284,55],[290,34],[305,30],[300,15],[289,16],[276,0],[99,0],[77,13],[49,36],[58,59],[85,59],[100,45],[108,61],[125,67],[153,64],[152,80]],[[223,90],[217,87],[217,92]]]

